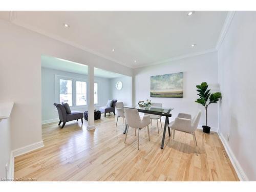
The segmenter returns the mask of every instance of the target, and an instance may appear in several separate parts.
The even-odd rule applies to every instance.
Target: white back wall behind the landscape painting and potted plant
[[[195,57],[184,58],[161,65],[143,67],[134,70],[135,76],[135,102],[151,99],[153,102],[163,103],[164,107],[175,108],[172,119],[178,113],[196,114],[202,110],[201,125],[205,124],[205,111],[203,106],[195,102],[198,98],[196,85],[206,81],[212,86],[218,83],[217,52],[207,53]],[[150,98],[150,77],[169,73],[183,72],[183,98]],[[212,87],[211,86],[211,87]],[[163,121],[164,119],[162,119]],[[215,130],[218,128],[218,106],[211,104],[208,108],[208,126]]]

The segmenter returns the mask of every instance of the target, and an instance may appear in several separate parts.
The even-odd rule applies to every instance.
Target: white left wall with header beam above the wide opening
[[[0,20],[0,101],[14,101],[12,149],[41,141],[41,55],[132,76],[115,62]]]

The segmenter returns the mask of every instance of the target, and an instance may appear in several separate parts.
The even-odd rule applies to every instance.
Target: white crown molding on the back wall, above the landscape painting
[[[181,60],[184,58],[189,58],[189,57],[195,57],[198,55],[203,55],[203,54],[207,54],[207,53],[212,53],[212,52],[216,52],[217,50],[214,49],[208,49],[205,51],[200,51],[200,52],[196,52],[196,53],[191,53],[191,54],[187,54],[187,55],[181,55],[178,57],[172,57],[166,60],[162,60],[162,61],[157,61],[157,62],[153,62],[153,63],[149,63],[149,64],[144,64],[144,65],[138,65],[138,66],[133,66],[134,69],[136,68],[141,68],[141,67],[146,67],[146,66],[154,66],[154,65],[158,65],[158,64],[162,64],[162,63],[166,63],[166,62],[171,62],[171,61],[175,61],[175,60]]]

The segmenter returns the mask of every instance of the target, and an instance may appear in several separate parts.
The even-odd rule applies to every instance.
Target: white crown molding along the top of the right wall
[[[221,33],[220,33],[220,36],[218,38],[218,41],[217,41],[217,44],[216,44],[216,49],[219,50],[226,34],[227,34],[227,31],[228,31],[228,28],[232,22],[232,19],[234,17],[234,14],[236,14],[236,11],[228,11],[227,13],[227,17],[225,19],[225,22],[224,22],[224,25],[221,29]]]

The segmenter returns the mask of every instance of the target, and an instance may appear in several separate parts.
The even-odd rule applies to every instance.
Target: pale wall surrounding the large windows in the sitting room
[[[53,103],[55,102],[55,75],[73,77],[78,79],[88,80],[87,75],[69,73],[66,71],[54,70],[49,68],[41,68],[41,98],[42,98],[42,123],[49,123],[58,120],[58,112],[55,110]],[[98,104],[95,109],[100,106],[105,106],[108,99],[111,98],[110,79],[95,77],[95,82],[98,82]],[[75,109],[81,112],[87,111],[87,106]]]

